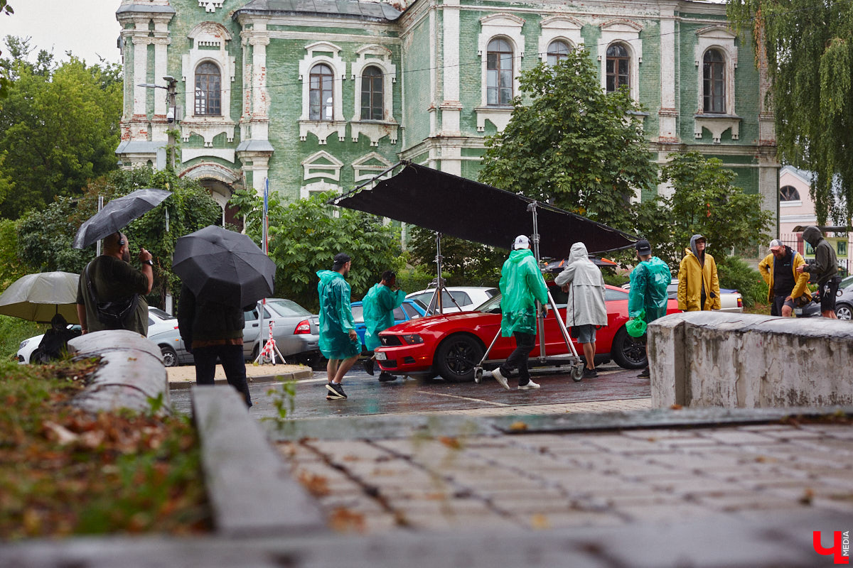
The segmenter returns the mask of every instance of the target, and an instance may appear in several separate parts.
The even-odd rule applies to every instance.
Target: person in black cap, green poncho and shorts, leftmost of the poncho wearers
[[[362,352],[362,342],[358,340],[356,323],[352,319],[350,284],[345,279],[351,265],[350,255],[340,252],[334,255],[332,270],[317,271],[317,278],[320,278],[317,284],[317,294],[320,296],[320,353],[328,359],[327,400],[346,398],[341,382]]]

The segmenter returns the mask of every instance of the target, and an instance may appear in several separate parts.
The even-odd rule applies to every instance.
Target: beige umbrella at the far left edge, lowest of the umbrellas
[[[48,323],[61,313],[69,324],[77,317],[78,274],[38,273],[18,278],[0,295],[0,314]]]

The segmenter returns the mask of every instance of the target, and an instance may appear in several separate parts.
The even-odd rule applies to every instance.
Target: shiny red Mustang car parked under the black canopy
[[[566,293],[551,284],[554,303],[566,315]],[[646,344],[628,335],[628,291],[607,286],[607,326],[595,335],[595,362],[616,361],[624,369],[641,369],[647,364]],[[666,313],[678,313],[678,301],[670,300]],[[393,375],[437,376],[445,381],[466,382],[474,378],[474,366],[483,359],[496,333],[501,330],[501,295],[486,301],[473,312],[450,313],[413,319],[380,333],[376,363]],[[548,357],[569,353],[553,311],[545,320],[545,354]],[[515,348],[512,337],[498,337],[489,360],[507,359]],[[583,349],[575,341],[577,353]],[[531,352],[531,366],[538,363],[539,345]],[[550,361],[547,364],[553,365]],[[487,365],[494,367],[496,364]]]

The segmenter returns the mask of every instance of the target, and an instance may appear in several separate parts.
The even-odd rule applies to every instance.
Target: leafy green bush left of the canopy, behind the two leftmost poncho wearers
[[[270,195],[270,258],[276,262],[276,295],[311,310],[319,307],[316,271],[331,269],[334,255],[352,257],[347,281],[356,300],[379,282],[386,270],[403,267],[397,228],[380,217],[352,209],[334,209],[322,193],[293,204]],[[263,203],[253,192],[235,192],[230,204],[246,215],[246,232],[256,243],[262,238]],[[337,215],[335,215],[337,214]]]

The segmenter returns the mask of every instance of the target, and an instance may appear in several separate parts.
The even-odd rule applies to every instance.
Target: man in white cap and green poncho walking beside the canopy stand
[[[519,390],[539,388],[531,381],[527,359],[536,346],[536,301],[542,304],[543,315],[548,317],[548,286],[542,278],[536,258],[530,250],[530,240],[525,235],[515,238],[513,252],[501,269],[501,335],[515,336],[515,351],[492,376],[509,390],[507,376],[519,370]]]

